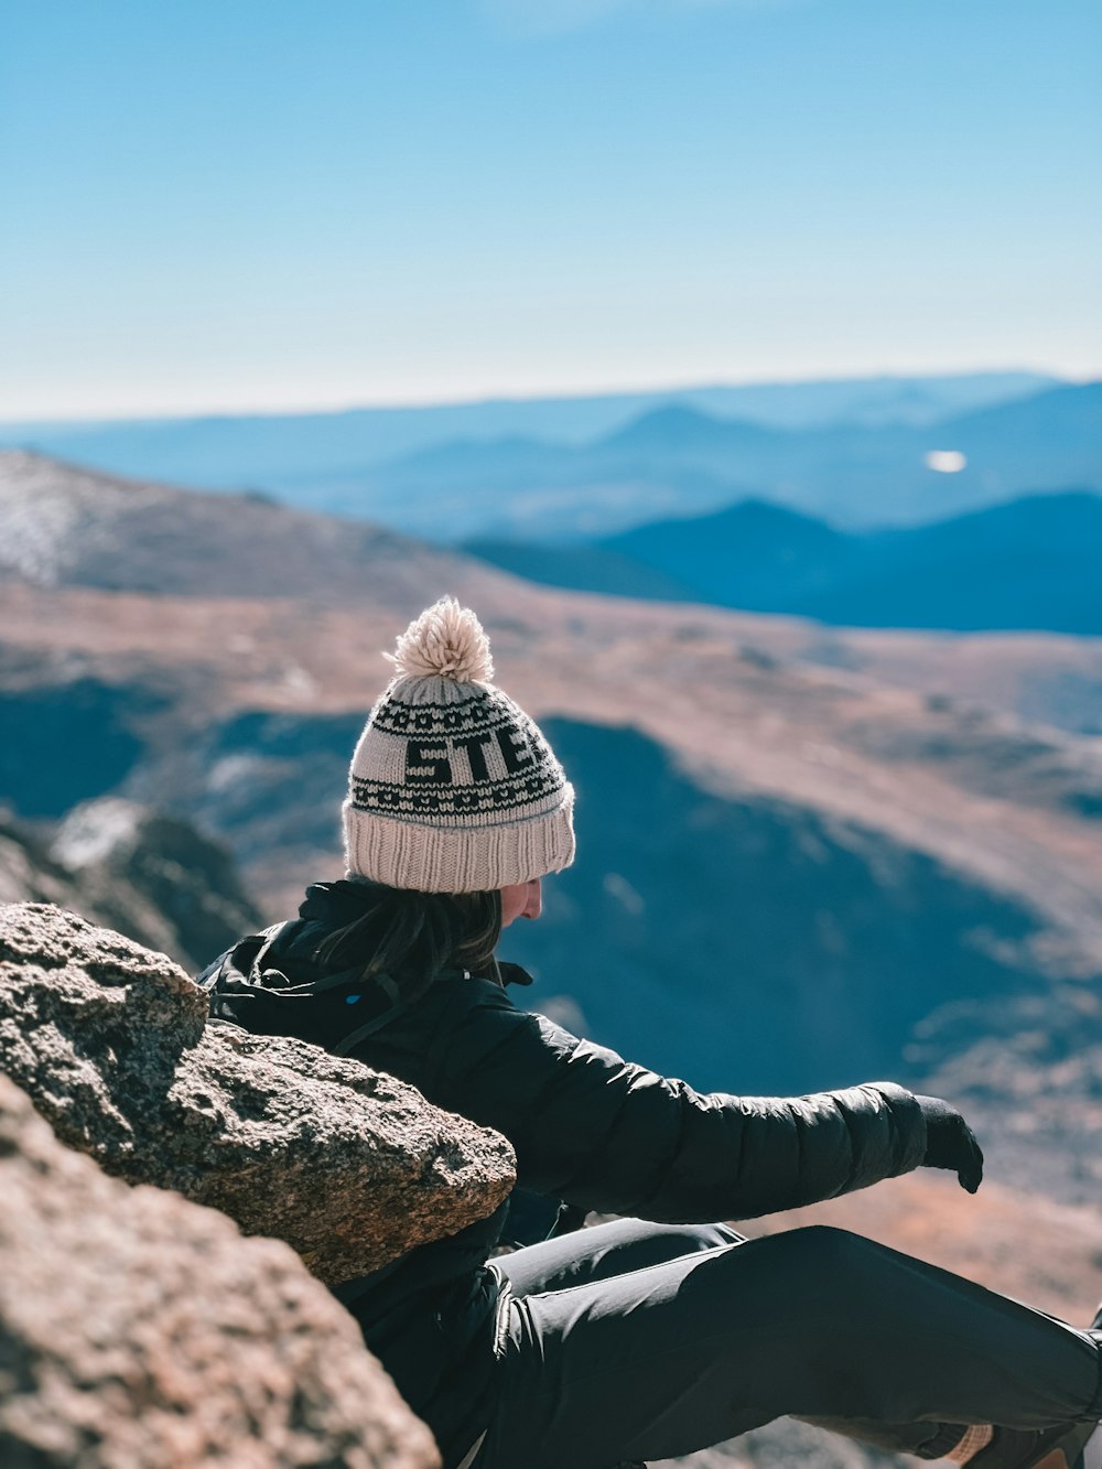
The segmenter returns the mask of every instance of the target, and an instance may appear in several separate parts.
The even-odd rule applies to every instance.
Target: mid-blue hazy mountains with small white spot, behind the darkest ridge
[[[793,432],[664,405],[588,445],[510,439],[379,466],[359,494],[360,513],[401,516],[422,535],[570,542],[748,497],[871,529],[1070,485],[1102,488],[1102,383],[924,427]],[[339,508],[354,514],[356,489],[344,489]]]

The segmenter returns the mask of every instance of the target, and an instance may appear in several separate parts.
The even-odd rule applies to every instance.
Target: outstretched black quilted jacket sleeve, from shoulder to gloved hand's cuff
[[[804,1097],[701,1094],[517,1011],[489,986],[454,1017],[432,1100],[495,1128],[536,1193],[658,1222],[751,1219],[917,1168],[926,1122],[873,1081]]]

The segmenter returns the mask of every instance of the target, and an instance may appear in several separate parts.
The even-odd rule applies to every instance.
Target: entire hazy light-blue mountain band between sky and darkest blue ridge
[[[868,529],[1027,491],[1102,488],[1102,385],[883,379],[12,427],[7,438],[145,480],[259,489],[436,542],[585,541],[748,497]]]

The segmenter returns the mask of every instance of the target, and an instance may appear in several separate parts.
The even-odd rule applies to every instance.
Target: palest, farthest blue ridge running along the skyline
[[[0,445],[34,447],[109,473],[207,489],[267,488],[294,499],[342,476],[457,441],[582,445],[666,404],[802,430],[849,423],[927,425],[1052,386],[1039,373],[854,378],[591,397],[491,400],[339,413],[237,414],[107,423],[0,425]],[[300,502],[304,502],[300,499]],[[323,502],[314,497],[317,508]]]

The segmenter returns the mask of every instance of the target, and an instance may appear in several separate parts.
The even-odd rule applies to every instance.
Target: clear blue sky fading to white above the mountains
[[[7,0],[0,419],[1102,375],[1096,0]]]

